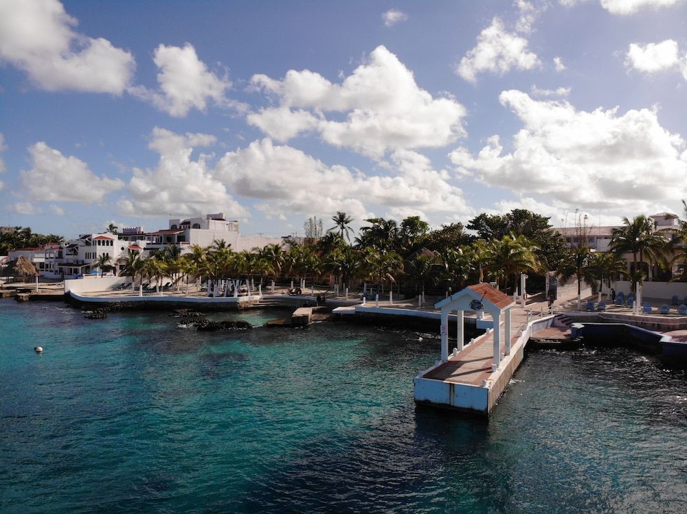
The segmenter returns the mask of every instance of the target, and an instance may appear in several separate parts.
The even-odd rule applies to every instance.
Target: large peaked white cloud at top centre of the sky
[[[280,105],[249,115],[248,122],[277,141],[313,130],[330,145],[381,159],[387,151],[440,148],[465,135],[465,108],[420,89],[383,46],[341,84],[308,70],[290,70],[284,80],[254,75],[252,82]]]

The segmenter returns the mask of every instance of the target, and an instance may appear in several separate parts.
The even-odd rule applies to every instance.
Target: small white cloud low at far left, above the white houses
[[[87,163],[40,141],[29,147],[31,170],[20,174],[33,200],[100,203],[106,194],[124,186],[118,178],[98,177]]]

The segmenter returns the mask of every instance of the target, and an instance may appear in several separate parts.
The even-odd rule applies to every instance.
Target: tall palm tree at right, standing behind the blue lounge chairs
[[[668,240],[662,233],[654,231],[653,220],[645,215],[639,215],[633,220],[622,218],[622,222],[625,226],[613,230],[609,248],[616,255],[632,254],[630,275],[634,291],[635,283],[642,283],[646,279],[644,270],[638,268],[638,255],[640,263],[644,262],[644,257],[649,259],[649,263],[659,261]]]

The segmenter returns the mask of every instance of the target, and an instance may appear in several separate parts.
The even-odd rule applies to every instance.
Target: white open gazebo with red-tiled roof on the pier
[[[501,321],[505,318],[506,355],[510,355],[510,309],[515,305],[513,297],[497,290],[488,283],[469,285],[462,291],[436,303],[435,309],[441,309],[441,361],[449,360],[449,314],[458,313],[457,335],[458,351],[463,349],[463,313],[465,311],[486,312],[494,321],[494,364],[492,371],[499,368],[501,362]]]

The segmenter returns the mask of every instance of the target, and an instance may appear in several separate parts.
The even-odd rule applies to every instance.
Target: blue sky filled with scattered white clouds
[[[687,0],[0,0],[0,225],[682,215]]]

